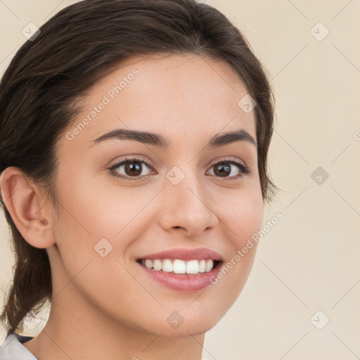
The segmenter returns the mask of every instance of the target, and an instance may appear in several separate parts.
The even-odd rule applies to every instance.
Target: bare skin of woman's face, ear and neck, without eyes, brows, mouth
[[[256,141],[254,111],[238,106],[245,86],[221,60],[131,58],[93,87],[68,131],[134,68],[139,75],[94,120],[74,139],[64,133],[58,141],[56,207],[20,169],[8,167],[1,176],[15,225],[28,243],[46,248],[51,262],[49,320],[24,343],[39,360],[199,360],[205,332],[236,300],[254,261],[256,245],[216,285],[190,292],[165,287],[136,264],[141,255],[201,247],[226,263],[261,228],[264,202],[256,146],[205,148],[211,136],[239,129]],[[162,134],[170,148],[118,139],[94,144],[119,128]],[[142,181],[110,174],[111,165],[135,155],[153,167],[143,167]],[[212,165],[229,158],[245,163],[250,174],[217,176]],[[176,186],[166,177],[174,166],[185,174]],[[124,166],[117,171],[129,174]],[[105,257],[94,250],[101,238],[113,245]],[[167,322],[173,311],[184,318],[179,328]]]

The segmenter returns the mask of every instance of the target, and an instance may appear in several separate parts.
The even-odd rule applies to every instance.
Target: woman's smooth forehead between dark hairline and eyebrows
[[[238,105],[247,94],[236,71],[222,60],[137,56],[113,66],[93,86],[69,129],[81,125],[76,143],[82,146],[104,131],[127,127],[171,138],[203,134],[204,139],[245,129],[256,139],[255,112]]]

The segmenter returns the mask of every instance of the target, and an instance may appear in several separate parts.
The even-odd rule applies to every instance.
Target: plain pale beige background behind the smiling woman
[[[359,358],[360,3],[207,3],[243,31],[271,73],[277,105],[270,165],[283,191],[266,209],[265,221],[278,211],[283,219],[262,238],[236,304],[207,333],[204,356]],[[0,72],[25,41],[25,25],[40,26],[69,4],[1,0]],[[324,39],[326,28],[319,22],[330,31]],[[329,174],[322,184],[311,178],[317,167]],[[0,221],[0,287],[5,289],[13,257],[4,217]],[[323,313],[311,322],[319,310]],[[318,330],[313,323],[320,327],[326,316],[330,322]],[[36,335],[42,326],[30,326],[26,334]],[[4,329],[0,335],[2,343]]]

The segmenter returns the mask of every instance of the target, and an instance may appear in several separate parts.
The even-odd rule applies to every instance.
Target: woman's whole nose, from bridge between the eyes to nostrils
[[[166,175],[165,201],[160,224],[166,228],[183,228],[196,236],[216,226],[217,217],[207,204],[205,187],[191,165],[173,167]]]

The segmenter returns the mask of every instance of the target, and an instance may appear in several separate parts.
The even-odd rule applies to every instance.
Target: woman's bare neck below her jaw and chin
[[[23,345],[39,360],[200,360],[205,334],[185,333],[188,335],[167,337],[163,331],[150,332],[115,321],[84,301],[70,283],[63,294],[53,298],[41,333]]]

